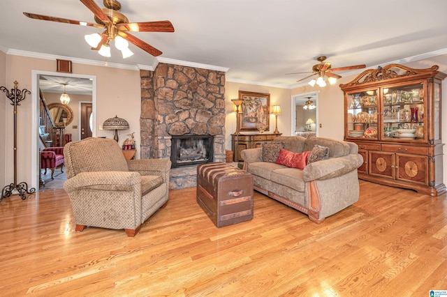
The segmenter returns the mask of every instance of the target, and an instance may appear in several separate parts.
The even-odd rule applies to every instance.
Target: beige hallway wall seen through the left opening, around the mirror
[[[89,95],[79,95],[79,94],[69,94],[70,103],[68,103],[68,107],[73,110],[73,121],[66,126],[65,133],[71,133],[71,140],[73,142],[80,139],[79,132],[81,128],[81,123],[79,121],[80,117],[80,102],[91,102],[91,96]],[[45,98],[45,102],[47,105],[51,103],[60,103],[59,98],[61,97],[60,93],[43,93],[43,97]],[[78,126],[78,128],[73,128],[73,125]],[[122,139],[124,140],[124,139]]]

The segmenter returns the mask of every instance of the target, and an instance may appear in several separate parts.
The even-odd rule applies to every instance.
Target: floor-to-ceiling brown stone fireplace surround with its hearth
[[[225,73],[159,63],[140,77],[141,158],[170,159],[173,137],[204,135],[213,137],[210,161],[225,162]],[[194,165],[171,169],[170,188],[196,185],[195,172]]]

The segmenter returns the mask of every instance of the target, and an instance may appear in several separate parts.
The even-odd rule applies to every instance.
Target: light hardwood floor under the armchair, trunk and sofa
[[[429,296],[447,289],[447,199],[360,181],[323,224],[254,197],[217,228],[196,189],[170,191],[135,238],[75,232],[64,190],[0,203],[1,296]]]

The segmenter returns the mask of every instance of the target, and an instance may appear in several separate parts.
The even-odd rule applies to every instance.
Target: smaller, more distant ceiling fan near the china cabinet
[[[305,79],[308,79],[309,77],[313,77],[314,75],[318,75],[317,79],[312,79],[309,84],[311,86],[314,86],[315,84],[318,84],[318,86],[325,86],[325,77],[328,77],[328,81],[330,84],[335,84],[337,82],[337,79],[341,78],[342,76],[335,74],[335,71],[342,71],[342,70],[351,70],[351,69],[361,69],[365,68],[366,65],[354,65],[354,66],[345,66],[345,67],[339,67],[339,68],[332,68],[331,63],[325,62],[326,56],[318,56],[316,58],[317,61],[320,63],[315,64],[312,67],[312,71],[304,72],[304,73],[312,73],[312,75],[308,75],[307,77],[304,77],[297,82],[301,82]],[[302,73],[286,73],[287,75],[293,75],[293,74],[302,74]]]

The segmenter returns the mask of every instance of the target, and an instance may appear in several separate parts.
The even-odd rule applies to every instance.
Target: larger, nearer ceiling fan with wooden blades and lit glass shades
[[[152,54],[152,56],[159,56],[162,54],[161,51],[131,35],[129,31],[174,32],[174,26],[169,21],[129,23],[127,17],[122,13],[119,13],[118,10],[121,9],[121,4],[117,0],[104,0],[103,3],[105,8],[100,8],[94,0],[80,1],[94,14],[94,20],[96,23],[68,20],[61,17],[50,17],[47,15],[37,15],[35,13],[23,14],[36,20],[77,24],[80,26],[94,26],[98,29],[105,29],[101,35],[95,33],[85,36],[87,43],[91,46],[91,50],[98,50],[98,53],[103,56],[110,56],[110,40],[115,40],[115,47],[122,51],[124,58],[133,54],[130,52],[129,48],[127,48],[129,43],[133,43],[142,50],[145,50],[145,52]]]

